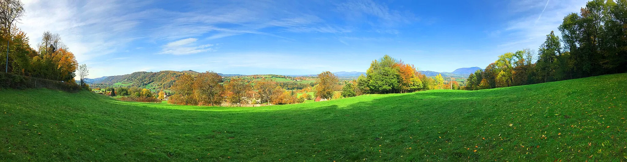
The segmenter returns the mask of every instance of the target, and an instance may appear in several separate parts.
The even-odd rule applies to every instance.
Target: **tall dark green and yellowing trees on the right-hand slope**
[[[466,80],[467,90],[510,87],[627,72],[627,0],[589,1],[564,17],[536,52],[498,56]]]

